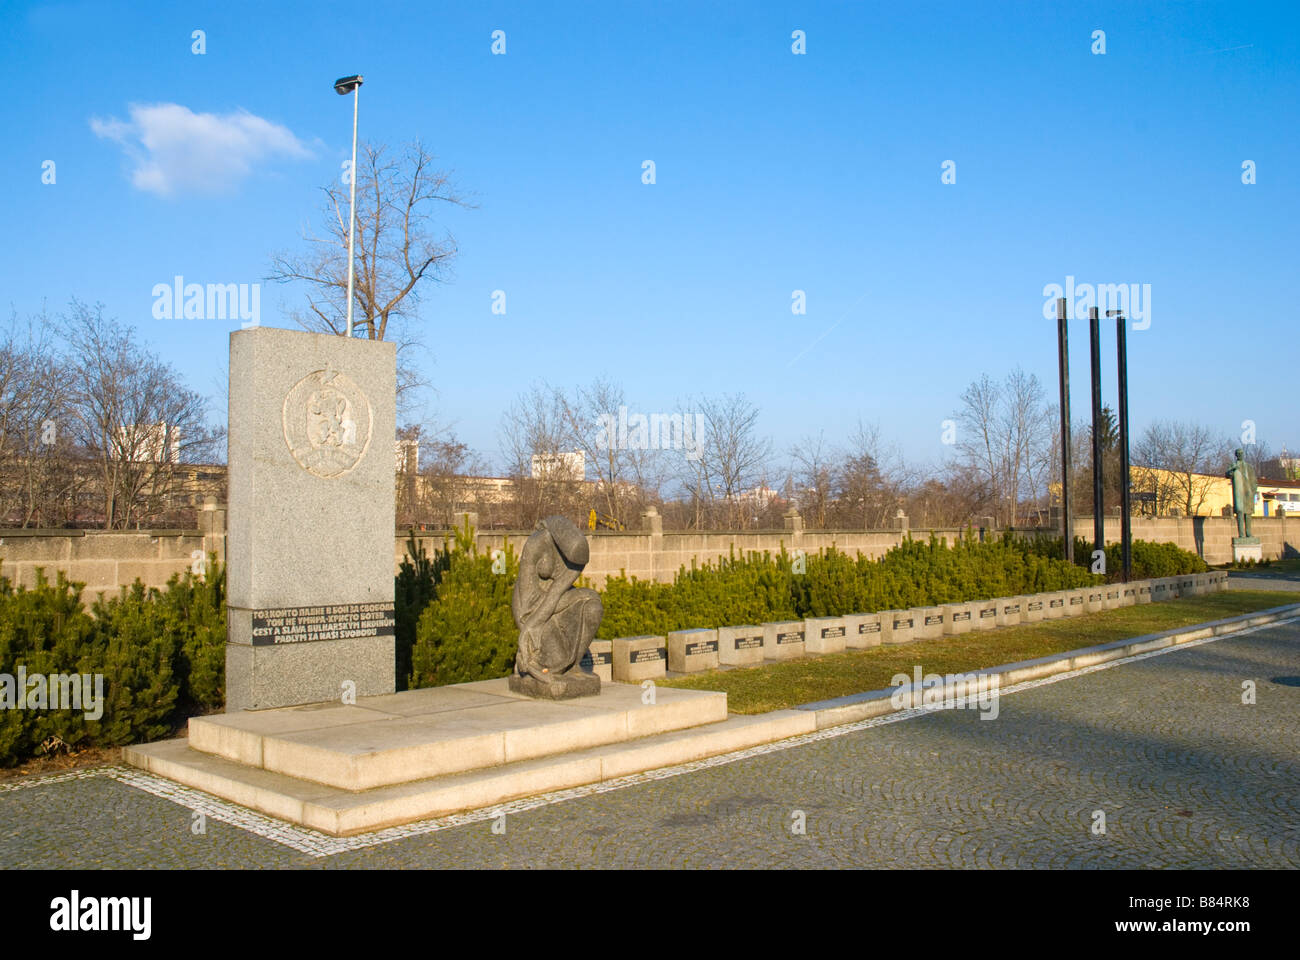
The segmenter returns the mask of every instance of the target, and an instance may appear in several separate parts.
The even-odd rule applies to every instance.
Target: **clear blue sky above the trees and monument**
[[[273,251],[302,247],[350,152],[351,100],[332,82],[361,73],[361,137],[421,139],[478,204],[445,221],[460,255],[421,329],[425,412],[490,463],[516,393],[597,375],[645,412],[745,392],[779,454],[818,431],[838,442],[861,416],[937,459],[941,420],[982,372],[1019,364],[1054,397],[1043,290],[1067,276],[1150,285],[1150,325],[1128,338],[1135,433],[1179,418],[1230,436],[1252,419],[1300,449],[1297,4],[0,10],[5,312],[101,300],[220,397],[218,419],[238,324],[155,320],[152,287],[259,282]],[[272,133],[229,163],[164,157],[160,194],[134,176],[157,157],[101,135],[133,104],[243,111]],[[291,325],[300,297],[264,284],[263,324]],[[1075,321],[1076,415],[1087,356]]]

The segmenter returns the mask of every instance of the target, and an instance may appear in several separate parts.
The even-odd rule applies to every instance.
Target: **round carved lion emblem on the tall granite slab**
[[[342,476],[360,463],[372,421],[361,388],[330,367],[308,373],[285,397],[285,444],[313,476]]]

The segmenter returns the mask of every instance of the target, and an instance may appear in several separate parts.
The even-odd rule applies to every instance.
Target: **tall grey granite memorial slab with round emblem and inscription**
[[[396,353],[230,334],[226,712],[391,693]]]

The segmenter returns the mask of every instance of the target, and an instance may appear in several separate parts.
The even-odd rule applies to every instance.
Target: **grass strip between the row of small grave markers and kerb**
[[[1300,602],[1300,593],[1222,591],[939,640],[809,656],[758,667],[710,670],[659,683],[682,689],[722,691],[727,693],[727,708],[732,713],[767,713],[883,689],[896,674],[910,676],[918,663],[927,674],[966,673],[1296,602]]]

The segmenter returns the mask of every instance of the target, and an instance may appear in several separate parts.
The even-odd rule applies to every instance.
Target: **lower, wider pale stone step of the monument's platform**
[[[658,695],[667,692],[659,689]],[[299,826],[347,836],[686,764],[815,728],[816,717],[806,710],[733,715],[690,730],[365,791],[330,787],[202,753],[185,739],[127,747],[124,756],[133,766],[155,775]]]

